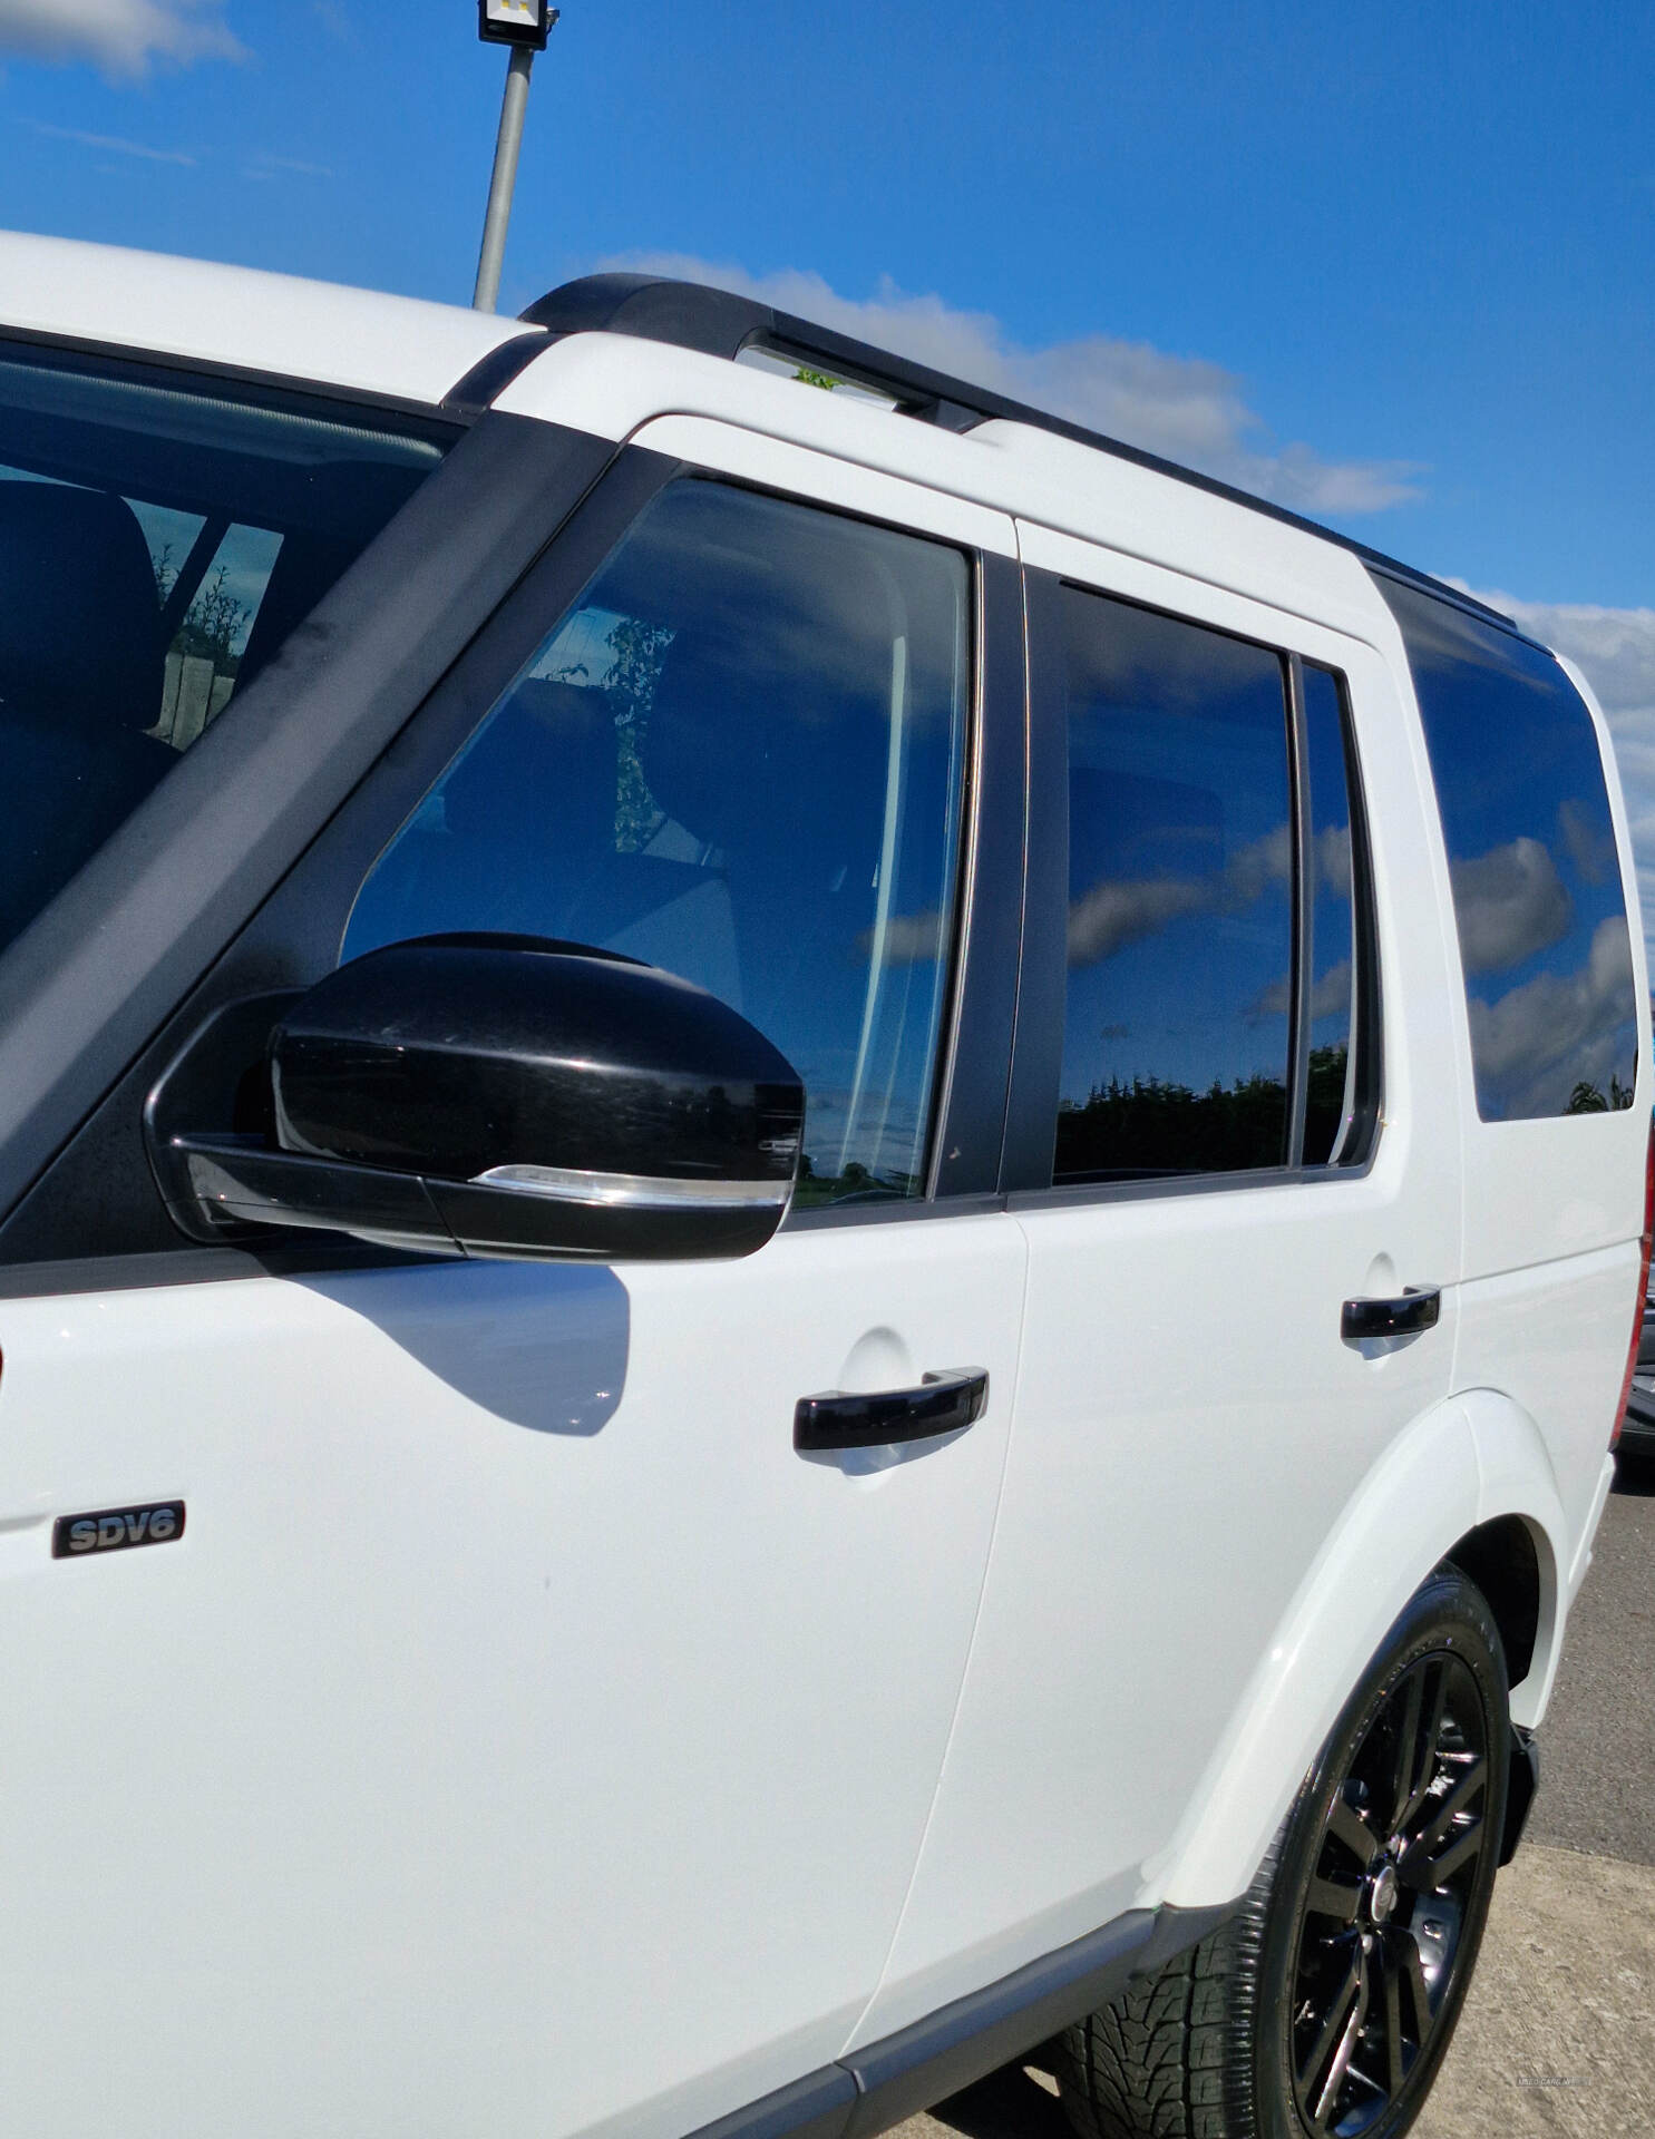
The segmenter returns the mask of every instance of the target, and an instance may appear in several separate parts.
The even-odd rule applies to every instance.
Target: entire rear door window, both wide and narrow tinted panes
[[[1377,956],[1340,676],[1090,588],[1062,640],[1053,1185],[1357,1166]]]

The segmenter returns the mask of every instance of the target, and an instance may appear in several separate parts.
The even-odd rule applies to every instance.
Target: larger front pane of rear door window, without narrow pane
[[[1056,1181],[1287,1164],[1282,659],[1064,588],[1068,990]]]

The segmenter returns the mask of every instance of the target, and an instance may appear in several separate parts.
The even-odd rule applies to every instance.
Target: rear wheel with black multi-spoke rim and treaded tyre
[[[1482,1944],[1505,1653],[1441,1566],[1304,1778],[1238,1914],[1058,2038],[1081,2139],[1398,2139]]]

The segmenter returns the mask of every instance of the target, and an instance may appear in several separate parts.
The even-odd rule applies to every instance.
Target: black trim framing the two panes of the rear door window
[[[1366,1179],[1379,1155],[1383,1119],[1383,1027],[1379,988],[1379,926],[1375,909],[1372,845],[1368,832],[1362,759],[1355,740],[1349,678],[1330,661],[1300,655],[1282,642],[1216,625],[1205,616],[1169,610],[1111,586],[1098,586],[1073,571],[1026,569],[1028,586],[1028,905],[1019,960],[1019,1005],[1013,1055],[1013,1097],[1006,1123],[1002,1194],[1011,1211],[1043,1211],[1092,1202],[1143,1202],[1163,1196],[1214,1196],[1240,1189],[1287,1185],[1338,1185]],[[1289,1014],[1289,1123],[1280,1166],[1252,1166],[1208,1174],[1156,1174],[1141,1181],[1051,1181],[1058,1140],[1058,1091],[1062,1080],[1062,1035],[1066,1014],[1068,939],[1068,682],[1064,663],[1060,597],[1064,588],[1098,595],[1126,607],[1148,610],[1169,622],[1216,631],[1220,637],[1257,646],[1282,665],[1287,714],[1291,824],[1293,824],[1293,1001]],[[1304,734],[1304,670],[1315,667],[1338,687],[1345,742],[1345,781],[1351,802],[1351,898],[1355,990],[1351,1052],[1355,1072],[1353,1125],[1345,1144],[1349,1159],[1304,1164],[1304,1104],[1308,1097],[1308,1001],[1310,960],[1308,907],[1312,875],[1306,866],[1308,749]],[[1342,1147],[1340,1147],[1342,1149]]]

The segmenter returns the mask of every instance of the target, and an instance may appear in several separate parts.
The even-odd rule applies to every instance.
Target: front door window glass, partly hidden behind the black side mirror
[[[666,967],[801,1072],[801,1202],[921,1194],[966,618],[940,543],[672,483],[390,845],[345,956],[503,928]]]

